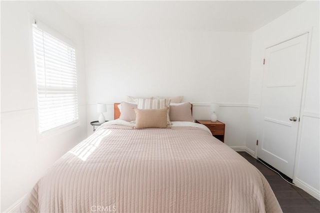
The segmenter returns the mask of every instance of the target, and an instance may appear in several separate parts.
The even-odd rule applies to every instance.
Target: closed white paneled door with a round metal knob
[[[257,156],[293,178],[308,33],[265,49]]]

